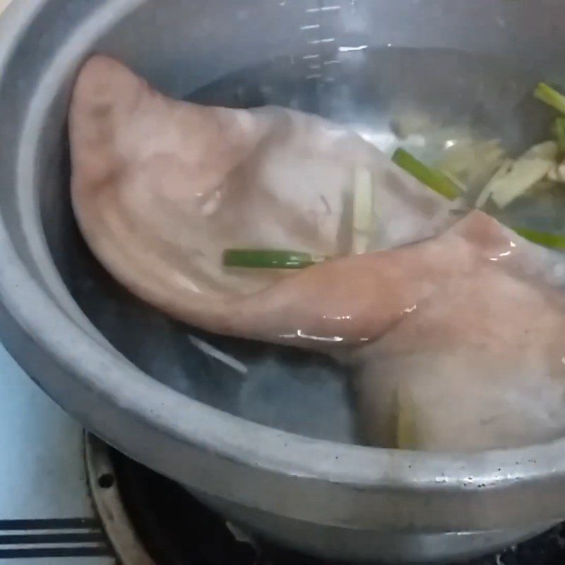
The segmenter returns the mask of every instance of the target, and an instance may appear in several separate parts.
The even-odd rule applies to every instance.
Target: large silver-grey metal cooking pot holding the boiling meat
[[[309,434],[324,406],[290,423],[284,406],[280,422],[234,409],[228,400],[241,400],[241,390],[214,381],[215,365],[203,379],[186,328],[127,297],[85,249],[69,205],[66,107],[81,61],[102,51],[177,97],[247,69],[197,96],[297,105],[362,124],[383,145],[396,104],[486,112],[501,127],[520,109],[504,135],[525,143],[543,117],[528,109],[531,85],[563,67],[561,16],[560,0],[14,2],[0,21],[6,347],[102,439],[297,549],[350,561],[447,560],[559,521],[563,439],[472,455],[411,453],[352,444],[346,416],[339,429],[326,417]],[[283,353],[261,355],[285,366]],[[208,386],[208,377],[220,385]],[[332,386],[320,389],[334,391],[325,408],[343,396]],[[275,391],[275,405],[304,396]]]

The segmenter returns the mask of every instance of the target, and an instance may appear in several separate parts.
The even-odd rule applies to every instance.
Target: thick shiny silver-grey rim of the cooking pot
[[[0,82],[20,36],[48,1],[15,1],[2,17]],[[139,0],[122,1],[134,7],[141,3]],[[102,4],[105,2],[100,9]],[[25,333],[100,398],[182,444],[191,444],[239,465],[275,475],[367,492],[399,489],[441,496],[457,491],[469,498],[496,490],[503,496],[499,500],[511,501],[512,497],[521,496],[524,489],[529,489],[528,497],[534,503],[542,489],[565,486],[565,438],[509,450],[424,453],[310,439],[229,415],[184,396],[136,369],[124,357],[100,345],[100,340],[93,337],[93,328],[87,331],[71,320],[20,260],[1,217],[0,256],[0,297],[9,316]],[[66,287],[64,290],[72,300]],[[77,367],[81,367],[79,373]],[[40,382],[44,379],[49,391],[49,376],[45,374],[37,379]],[[64,405],[64,398],[57,400]],[[103,410],[99,414],[92,413],[91,417],[97,429],[105,430]],[[552,487],[547,485],[548,480]],[[509,487],[518,483],[521,490],[517,495],[516,489]],[[522,518],[531,521],[559,518],[563,501],[563,497],[553,496],[540,504],[540,508],[531,504],[523,511]],[[481,514],[487,509],[492,512],[493,505],[484,506]],[[510,504],[509,510],[499,509],[498,518],[494,516],[495,521],[499,519],[500,527],[511,521],[510,509],[516,511]],[[377,516],[379,509],[368,512]],[[469,518],[479,525],[480,516]]]

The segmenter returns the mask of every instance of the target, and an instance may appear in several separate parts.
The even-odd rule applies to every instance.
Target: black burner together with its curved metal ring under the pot
[[[93,497],[124,565],[329,565],[261,540],[252,544],[238,541],[244,536],[237,528],[202,506],[179,484],[90,435],[86,436],[86,453]],[[502,554],[454,565],[564,563],[562,524]]]

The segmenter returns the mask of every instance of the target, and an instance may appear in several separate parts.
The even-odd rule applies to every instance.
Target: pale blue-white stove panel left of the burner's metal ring
[[[2,558],[2,550],[24,547],[22,543],[4,544],[3,535],[40,533],[3,530],[3,521],[53,518],[95,518],[86,486],[83,430],[0,345],[0,564],[114,564],[110,557]],[[64,532],[46,530],[44,533]]]

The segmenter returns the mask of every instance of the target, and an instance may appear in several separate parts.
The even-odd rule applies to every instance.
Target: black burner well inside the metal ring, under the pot
[[[178,484],[120,453],[112,452],[112,458],[124,506],[157,565],[329,565],[268,544],[255,549],[237,542],[222,518]],[[565,523],[502,554],[465,565],[564,564]]]

